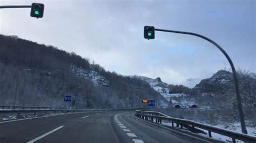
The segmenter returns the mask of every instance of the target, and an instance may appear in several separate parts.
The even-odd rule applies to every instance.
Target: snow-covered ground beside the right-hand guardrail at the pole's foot
[[[172,123],[164,123],[162,122],[163,125],[167,125],[167,126],[172,126]],[[208,125],[208,124],[207,124]],[[174,126],[176,126],[176,124],[174,123]],[[211,125],[213,126],[213,125]],[[223,128],[225,130],[229,130],[229,131],[233,131],[233,132],[237,132],[237,133],[242,133],[241,131],[241,125],[240,123],[235,123],[235,124],[231,124],[229,126],[224,126],[224,125],[216,125],[213,127],[218,127],[218,128]],[[203,130],[203,129],[200,129]],[[251,135],[252,137],[256,137],[256,127],[246,127],[246,130],[248,132],[248,135]],[[198,133],[199,135],[208,138],[208,131],[207,130],[203,130],[206,134],[203,133]],[[212,139],[218,140],[218,141],[224,141],[224,142],[232,142],[232,138],[230,137],[226,137],[225,135],[221,135],[218,133],[214,133],[212,132]],[[244,142],[241,140],[236,140],[236,142]]]

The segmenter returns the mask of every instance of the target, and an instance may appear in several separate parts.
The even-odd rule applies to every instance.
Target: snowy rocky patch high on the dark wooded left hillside
[[[79,77],[90,79],[93,83],[96,85],[104,85],[104,86],[109,86],[109,81],[106,80],[105,77],[99,75],[96,71],[94,70],[85,70],[79,67],[76,67],[74,65],[70,66],[71,71],[76,74]]]

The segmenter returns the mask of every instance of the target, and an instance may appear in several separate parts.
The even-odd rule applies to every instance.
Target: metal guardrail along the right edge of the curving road
[[[163,113],[160,113],[160,112],[136,110],[135,115],[137,117],[143,118],[145,120],[154,121],[154,119],[155,119],[157,124],[159,124],[159,123],[161,124],[162,120],[166,120],[166,121],[172,122],[172,127],[174,127],[173,123],[176,123],[177,127],[179,127],[179,125],[180,125],[180,128],[183,128],[183,126],[189,126],[189,128],[192,129],[191,130],[192,132],[194,132],[196,130],[195,127],[201,128],[201,129],[208,131],[208,135],[210,138],[212,137],[211,132],[214,132],[214,133],[218,133],[221,135],[225,135],[226,137],[232,138],[233,142],[235,142],[236,139],[246,141],[246,142],[254,142],[254,143],[256,142],[255,137],[252,137],[247,134],[232,132],[232,131],[225,130],[223,128],[213,127],[210,125],[197,123],[197,122],[191,121],[191,120],[172,118],[172,117],[164,115]]]

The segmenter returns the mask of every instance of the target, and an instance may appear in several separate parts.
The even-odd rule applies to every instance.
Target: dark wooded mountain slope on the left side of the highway
[[[67,106],[72,95],[77,108],[142,108],[145,95],[168,102],[149,83],[124,77],[90,63],[76,53],[0,34],[0,104]]]

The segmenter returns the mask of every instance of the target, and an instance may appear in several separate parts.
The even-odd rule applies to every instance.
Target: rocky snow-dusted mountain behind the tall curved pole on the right
[[[256,121],[256,78],[238,70],[238,85],[240,90],[242,108],[247,120]],[[229,109],[232,117],[237,119],[237,96],[234,89],[233,73],[226,70],[219,70],[212,77],[201,80],[192,89],[196,91],[194,98],[199,106],[213,109]]]

